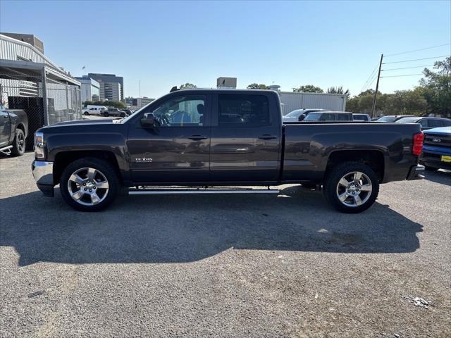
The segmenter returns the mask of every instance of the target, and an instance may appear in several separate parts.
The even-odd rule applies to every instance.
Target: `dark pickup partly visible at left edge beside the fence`
[[[0,103],[0,153],[22,156],[28,134],[28,116],[20,109],[6,109]]]

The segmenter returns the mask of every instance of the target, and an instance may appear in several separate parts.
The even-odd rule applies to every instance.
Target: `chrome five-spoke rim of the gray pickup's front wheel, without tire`
[[[103,173],[94,168],[81,168],[70,175],[68,191],[74,201],[94,206],[106,198],[109,184]]]

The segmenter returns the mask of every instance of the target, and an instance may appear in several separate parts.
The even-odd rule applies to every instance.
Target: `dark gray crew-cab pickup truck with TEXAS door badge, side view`
[[[379,184],[419,178],[423,134],[400,123],[282,123],[268,90],[177,90],[123,120],[56,123],[35,134],[39,189],[81,211],[128,194],[277,193],[316,184],[358,213]],[[172,187],[171,187],[172,186]],[[175,188],[178,186],[178,188]],[[267,186],[268,189],[224,189]]]

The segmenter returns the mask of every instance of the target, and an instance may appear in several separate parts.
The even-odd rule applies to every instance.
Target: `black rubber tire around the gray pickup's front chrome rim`
[[[80,199],[80,202],[75,201],[75,199],[72,198],[70,192],[69,192],[69,179],[75,173],[77,170],[82,170],[82,168],[94,168],[95,170],[98,170],[101,175],[103,175],[106,178],[106,181],[109,185],[108,190],[106,192],[106,196],[104,199],[101,199],[99,203],[93,204],[93,205],[84,205],[80,204],[82,202],[82,199],[85,199],[82,197]],[[88,181],[89,182],[89,181]],[[74,184],[73,182],[71,184]],[[76,210],[79,211],[100,211],[107,206],[109,206],[114,199],[116,198],[116,195],[118,194],[119,189],[121,189],[121,184],[118,180],[118,175],[116,174],[116,170],[114,170],[113,166],[104,161],[100,160],[98,158],[80,158],[80,160],[74,161],[73,163],[70,163],[61,174],[60,182],[59,182],[59,189],[61,192],[61,196],[63,196],[64,201],[66,201],[67,204],[69,204],[71,207],[73,207]],[[72,189],[72,188],[71,188]],[[89,189],[89,188],[88,188]],[[98,192],[101,190],[100,187],[97,189]],[[82,187],[80,184],[80,192],[82,191]],[[86,192],[85,194],[88,194]]]

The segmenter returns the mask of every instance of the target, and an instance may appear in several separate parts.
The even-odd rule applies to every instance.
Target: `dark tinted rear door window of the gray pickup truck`
[[[269,102],[265,95],[218,95],[219,125],[257,127],[269,125]]]

